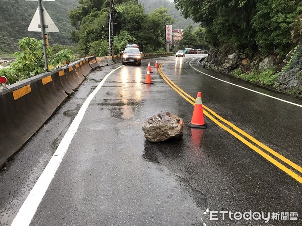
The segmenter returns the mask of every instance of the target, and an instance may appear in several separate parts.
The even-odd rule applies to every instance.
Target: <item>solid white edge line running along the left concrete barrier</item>
[[[40,205],[47,189],[54,178],[54,175],[59,168],[62,159],[64,158],[68,147],[73,139],[74,134],[77,132],[78,127],[84,117],[84,114],[91,102],[94,98],[96,93],[100,90],[102,85],[105,83],[106,79],[116,70],[120,69],[122,66],[114,69],[110,73],[108,73],[103,80],[99,83],[99,85],[93,90],[93,92],[88,96],[88,98],[83,103],[82,107],[80,108],[77,116],[75,116],[74,120],[72,121],[68,131],[64,135],[61,143],[59,144],[58,148],[56,149],[55,153],[51,157],[49,163],[45,167],[44,171],[40,175],[39,179],[35,183],[33,189],[30,191],[29,195],[23,202],[19,212],[17,213],[16,217],[14,218],[11,225],[13,226],[20,226],[20,225],[29,225],[31,220],[33,219],[38,206]]]

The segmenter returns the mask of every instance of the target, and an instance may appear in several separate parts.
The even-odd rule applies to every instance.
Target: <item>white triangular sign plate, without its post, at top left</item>
[[[53,20],[47,13],[46,9],[43,7],[43,15],[44,15],[44,28],[45,32],[59,32],[58,27],[54,24]],[[40,23],[40,13],[39,7],[36,10],[36,13],[28,26],[28,31],[41,32],[41,23]]]

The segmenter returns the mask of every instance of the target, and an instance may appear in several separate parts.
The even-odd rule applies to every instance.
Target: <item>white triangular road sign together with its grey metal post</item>
[[[28,26],[28,31],[41,32],[42,42],[43,42],[43,52],[44,52],[44,61],[45,61],[45,70],[48,71],[48,62],[47,62],[47,52],[46,52],[46,37],[45,32],[59,32],[59,29],[54,24],[53,20],[47,13],[46,9],[42,5],[42,0],[26,0],[26,1],[38,1],[38,9]],[[55,1],[55,0],[43,0],[43,1]],[[46,35],[46,37],[45,37]]]

